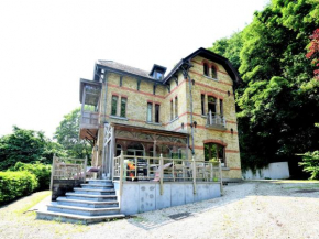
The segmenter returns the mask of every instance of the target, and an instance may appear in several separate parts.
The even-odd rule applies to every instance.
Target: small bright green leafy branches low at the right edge
[[[309,180],[319,180],[319,151],[302,154],[302,162],[299,165],[304,166],[305,172],[311,174]]]

